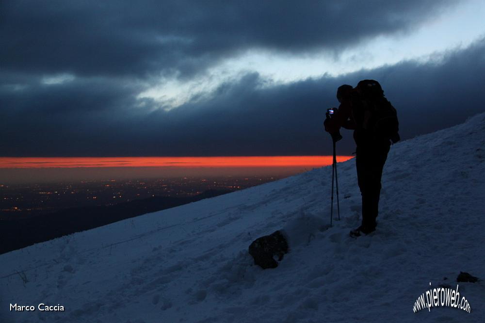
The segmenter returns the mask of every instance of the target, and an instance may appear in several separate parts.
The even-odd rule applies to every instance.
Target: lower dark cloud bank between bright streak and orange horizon
[[[258,74],[247,74],[205,101],[169,112],[148,99],[145,108],[136,108],[136,83],[33,82],[30,90],[0,89],[0,150],[3,156],[330,154],[322,123],[325,109],[337,104],[339,85],[380,81],[398,109],[405,139],[484,111],[483,70],[485,39],[439,63],[409,61],[339,78],[261,87]],[[55,87],[65,87],[69,96],[49,90]],[[146,113],[150,106],[154,110]],[[352,134],[342,134],[339,153],[350,154]]]

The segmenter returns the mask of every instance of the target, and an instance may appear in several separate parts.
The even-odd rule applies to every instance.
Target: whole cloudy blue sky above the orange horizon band
[[[403,139],[432,132],[485,110],[484,16],[483,0],[2,0],[0,155],[327,155],[337,87],[369,78]]]

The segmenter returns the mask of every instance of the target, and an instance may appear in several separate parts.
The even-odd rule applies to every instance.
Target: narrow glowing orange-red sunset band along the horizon
[[[353,156],[337,156],[347,161]],[[76,167],[320,167],[332,156],[244,157],[1,157],[0,168]]]

